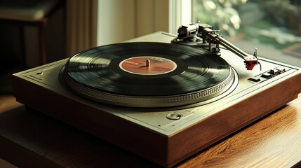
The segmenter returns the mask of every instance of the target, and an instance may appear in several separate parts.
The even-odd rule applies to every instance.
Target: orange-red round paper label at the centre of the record
[[[177,64],[163,57],[131,57],[120,62],[123,71],[138,75],[161,75],[177,68]]]

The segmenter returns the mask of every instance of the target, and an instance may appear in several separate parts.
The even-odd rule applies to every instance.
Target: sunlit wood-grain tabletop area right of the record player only
[[[292,167],[301,160],[300,97],[178,167]]]

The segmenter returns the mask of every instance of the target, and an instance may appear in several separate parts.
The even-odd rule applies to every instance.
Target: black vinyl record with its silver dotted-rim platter
[[[231,87],[234,74],[205,50],[144,42],[80,52],[67,62],[64,78],[74,92],[98,102],[154,107],[210,99]]]

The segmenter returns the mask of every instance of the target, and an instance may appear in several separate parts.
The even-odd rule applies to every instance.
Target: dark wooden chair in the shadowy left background
[[[20,47],[22,57],[20,62],[22,68],[26,69],[25,55],[25,27],[36,27],[38,33],[39,55],[41,64],[47,63],[45,46],[45,27],[48,18],[59,8],[62,8],[64,1],[43,0],[43,1],[0,1],[0,24],[18,27],[20,32]],[[31,44],[27,44],[31,45]]]

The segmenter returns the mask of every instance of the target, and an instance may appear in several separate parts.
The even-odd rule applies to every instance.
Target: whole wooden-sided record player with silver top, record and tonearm
[[[191,24],[178,36],[159,31],[15,73],[13,94],[172,167],[297,98],[300,71],[257,50],[246,54],[210,25]]]

